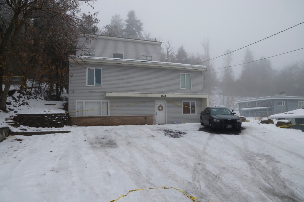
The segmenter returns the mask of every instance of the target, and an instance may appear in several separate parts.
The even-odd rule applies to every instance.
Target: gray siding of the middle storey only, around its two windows
[[[202,93],[202,72],[149,67],[92,65],[102,68],[102,86],[86,86],[86,69],[71,64],[69,91],[90,94],[105,91],[148,93]],[[192,89],[180,88],[180,73],[191,74]]]

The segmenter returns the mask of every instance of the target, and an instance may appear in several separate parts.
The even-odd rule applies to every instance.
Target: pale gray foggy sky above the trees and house
[[[171,39],[176,50],[181,45],[187,52],[203,53],[201,42],[209,36],[211,57],[224,54],[264,39],[300,22],[304,22],[304,1],[102,1],[94,9],[82,6],[82,12],[99,12],[98,26],[109,24],[112,16],[126,19],[135,10],[144,31],[164,41]],[[269,57],[304,48],[304,23],[269,39],[250,45],[254,58]],[[245,49],[233,54],[232,65],[242,63]],[[271,58],[274,69],[304,59],[304,49]],[[223,57],[215,59],[215,68],[223,67]],[[238,77],[241,66],[233,67]]]

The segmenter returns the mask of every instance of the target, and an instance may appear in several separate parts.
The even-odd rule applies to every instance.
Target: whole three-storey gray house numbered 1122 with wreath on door
[[[72,123],[199,122],[200,111],[209,105],[203,93],[205,66],[160,62],[161,42],[96,37],[91,42],[94,52],[88,53],[95,57],[70,57]]]

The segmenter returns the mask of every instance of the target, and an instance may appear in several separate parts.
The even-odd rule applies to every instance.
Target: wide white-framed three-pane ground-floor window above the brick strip
[[[109,116],[109,100],[77,100],[76,109],[76,116]]]

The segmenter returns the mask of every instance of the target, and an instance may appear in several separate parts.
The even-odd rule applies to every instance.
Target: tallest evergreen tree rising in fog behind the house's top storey
[[[126,28],[123,29],[123,35],[128,38],[142,39],[143,23],[137,19],[135,11],[129,11],[128,19],[125,20]]]

